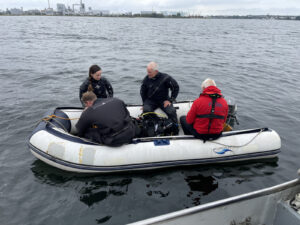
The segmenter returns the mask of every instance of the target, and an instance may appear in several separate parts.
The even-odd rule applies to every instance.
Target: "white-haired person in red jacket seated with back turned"
[[[203,81],[202,93],[197,98],[187,116],[180,117],[184,134],[196,138],[214,140],[221,136],[228,115],[228,105],[212,79]]]

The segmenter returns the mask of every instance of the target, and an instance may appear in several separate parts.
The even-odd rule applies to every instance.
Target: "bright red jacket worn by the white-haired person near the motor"
[[[212,98],[209,96],[210,94],[221,94],[221,90],[215,86],[209,86],[205,88],[197,98],[190,111],[186,116],[186,122],[189,124],[193,124],[194,129],[199,134],[219,134],[223,131],[223,125],[226,122],[228,115],[228,105],[226,100],[221,97],[217,98],[215,103],[215,115],[224,116],[224,119],[211,119],[210,129],[208,131],[209,126],[209,118],[198,118],[197,115],[205,115],[211,113],[212,108]]]

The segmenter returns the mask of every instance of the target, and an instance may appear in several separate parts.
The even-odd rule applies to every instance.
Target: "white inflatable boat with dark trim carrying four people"
[[[192,101],[175,103],[178,118]],[[127,106],[132,117],[142,114],[140,105]],[[235,117],[236,105],[229,105]],[[83,108],[64,107],[47,112],[29,138],[29,149],[54,167],[79,173],[109,173],[163,167],[235,162],[276,157],[281,140],[276,131],[257,128],[223,132],[214,141],[195,139],[180,132],[175,136],[136,138],[130,144],[109,147],[76,136],[75,124]],[[159,114],[163,112],[159,109]]]

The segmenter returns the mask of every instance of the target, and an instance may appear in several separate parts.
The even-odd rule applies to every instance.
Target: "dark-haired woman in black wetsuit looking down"
[[[79,88],[79,99],[83,93],[92,91],[97,98],[113,97],[114,91],[109,81],[101,76],[102,70],[98,65],[92,65],[89,69],[89,77],[81,84]],[[81,102],[82,105],[83,102]]]

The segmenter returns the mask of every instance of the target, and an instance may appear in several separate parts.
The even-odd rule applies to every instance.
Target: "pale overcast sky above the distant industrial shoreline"
[[[80,0],[49,0],[56,10],[57,3],[66,6]],[[300,15],[300,0],[82,0],[86,9],[110,12],[183,11],[201,15],[277,14]],[[45,9],[48,0],[0,0],[0,9]]]

